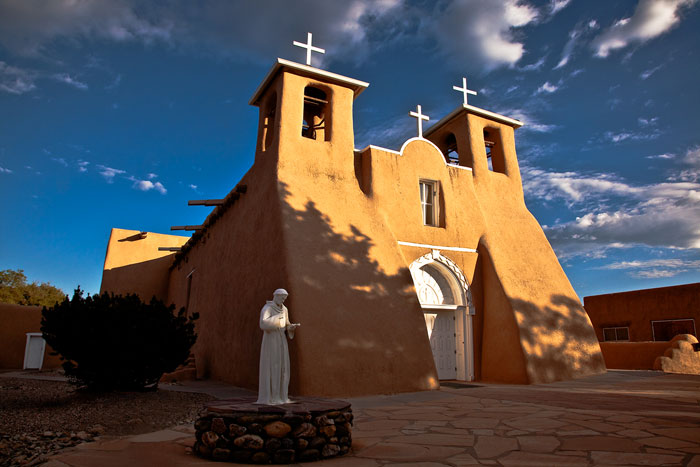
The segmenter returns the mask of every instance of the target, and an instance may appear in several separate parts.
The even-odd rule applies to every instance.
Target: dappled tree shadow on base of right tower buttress
[[[550,302],[538,306],[511,299],[530,381],[559,381],[605,371],[600,345],[581,303],[558,294]]]

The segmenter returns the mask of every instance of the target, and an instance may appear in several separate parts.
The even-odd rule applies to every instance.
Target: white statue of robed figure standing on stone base
[[[299,324],[289,321],[289,312],[282,303],[289,294],[277,289],[272,300],[268,300],[260,311],[260,329],[263,342],[260,347],[260,374],[258,401],[256,404],[287,404],[289,387],[289,350],[287,337],[294,339],[294,331]]]

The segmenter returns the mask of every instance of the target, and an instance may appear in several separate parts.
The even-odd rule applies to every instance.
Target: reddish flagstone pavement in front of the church
[[[350,399],[352,452],[295,465],[700,467],[700,376],[615,370],[552,384],[451,386]],[[44,465],[211,465],[191,453],[193,431],[102,438]]]

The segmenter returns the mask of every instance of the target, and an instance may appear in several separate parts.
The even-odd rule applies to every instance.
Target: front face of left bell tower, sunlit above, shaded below
[[[278,176],[294,340],[292,394],[436,389],[408,264],[355,178],[353,92],[283,74]],[[331,141],[301,137],[304,87],[329,94]]]

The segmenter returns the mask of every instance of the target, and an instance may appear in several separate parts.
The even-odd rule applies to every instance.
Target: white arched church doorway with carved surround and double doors
[[[433,250],[411,264],[439,379],[474,379],[469,285],[459,267]]]

